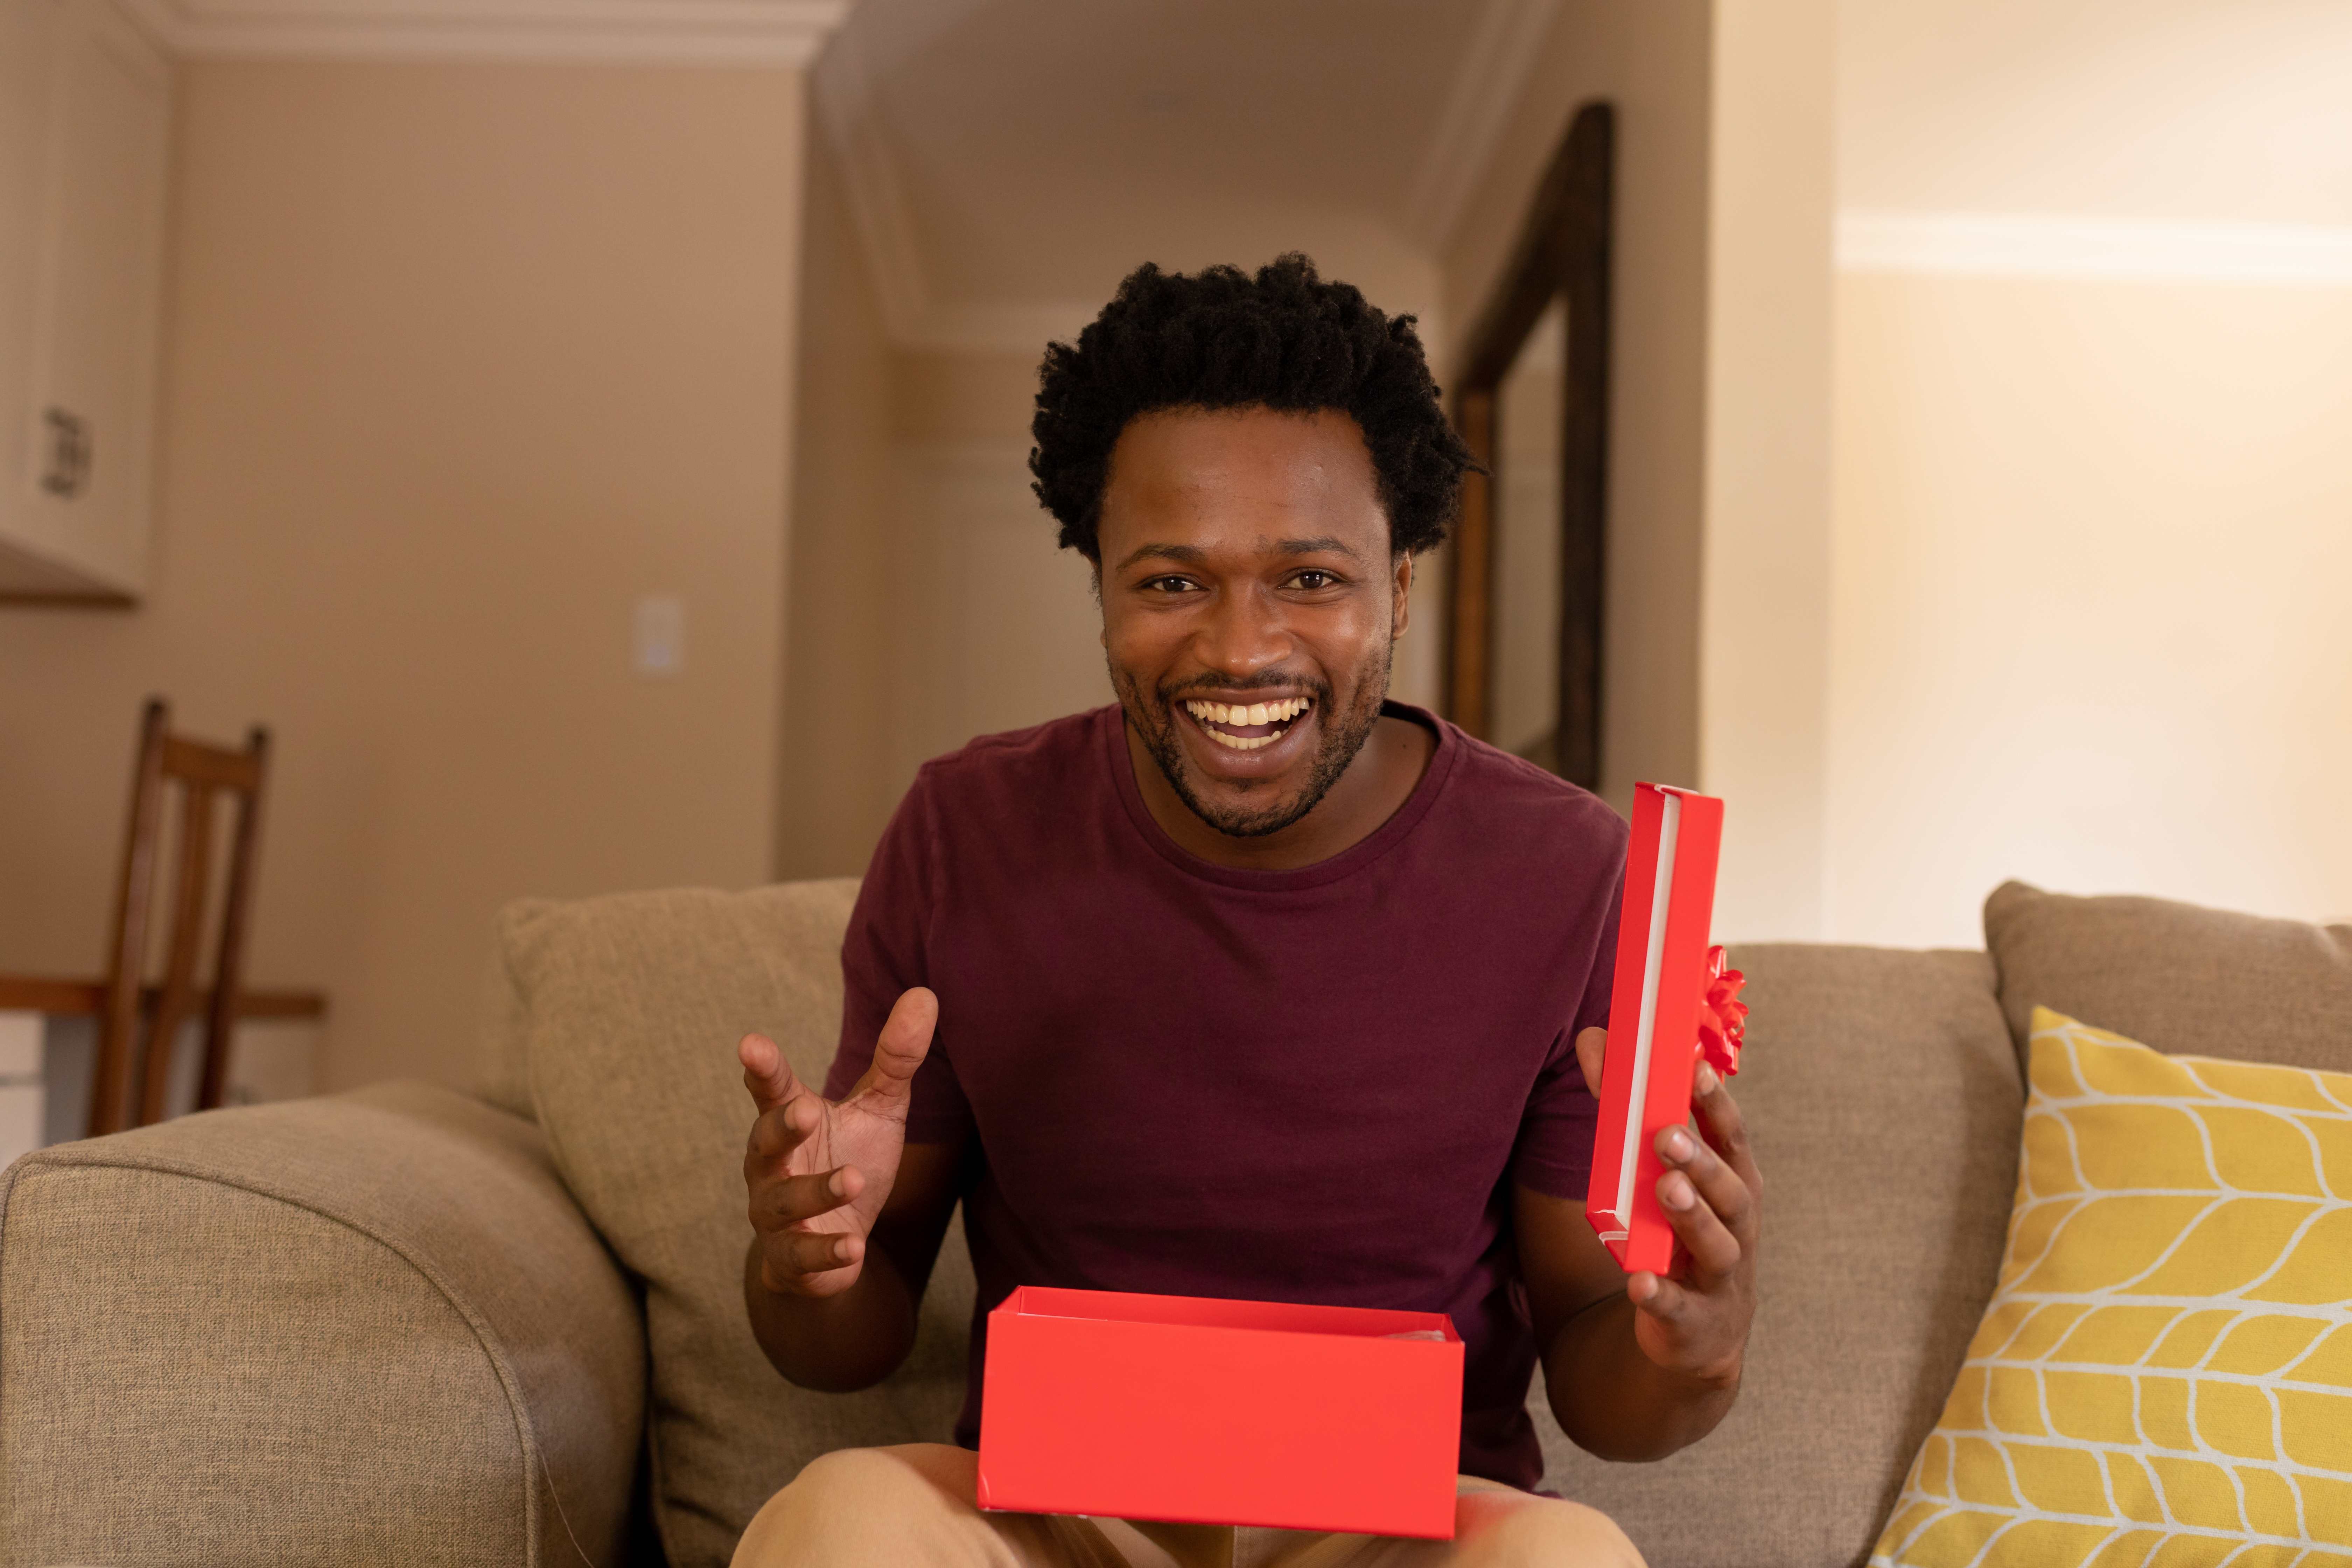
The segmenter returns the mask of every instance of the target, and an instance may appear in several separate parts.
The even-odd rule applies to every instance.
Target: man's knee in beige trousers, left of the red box
[[[971,1514],[974,1460],[962,1448],[840,1448],[809,1460],[743,1530],[736,1568],[910,1561]]]

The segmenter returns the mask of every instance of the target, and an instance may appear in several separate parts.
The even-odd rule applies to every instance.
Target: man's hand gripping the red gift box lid
[[[1606,1046],[1606,1030],[1576,1037],[1576,1063],[1595,1100],[1602,1093]],[[1691,1077],[1691,1110],[1700,1138],[1684,1126],[1658,1133],[1658,1159],[1665,1161],[1658,1204],[1682,1241],[1675,1267],[1665,1276],[1646,1269],[1632,1274],[1625,1295],[1637,1307],[1635,1340],[1642,1354],[1670,1371],[1736,1382],[1757,1300],[1764,1178],[1748,1147],[1740,1107],[1708,1063],[1698,1063]]]

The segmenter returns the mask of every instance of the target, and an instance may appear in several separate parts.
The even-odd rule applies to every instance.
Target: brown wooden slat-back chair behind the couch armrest
[[[261,785],[268,776],[270,733],[254,726],[242,752],[169,733],[172,710],[148,698],[139,722],[139,769],[132,773],[132,825],[122,851],[122,893],[115,900],[115,943],[106,954],[106,1001],[99,1016],[96,1084],[89,1095],[89,1135],[162,1121],[172,1093],[172,1048],[181,1025],[205,1011],[205,1079],[198,1105],[212,1110],[228,1086],[228,1046],[238,1027],[238,985],[245,978],[245,926],[254,907],[254,860],[261,846]],[[172,884],[172,929],[162,987],[139,1048],[148,914],[155,903],[155,860],[162,839],[165,788],[179,785],[179,872]],[[212,891],[212,804],[235,797],[238,835],[228,856],[228,891],[214,947],[212,990],[195,987]]]

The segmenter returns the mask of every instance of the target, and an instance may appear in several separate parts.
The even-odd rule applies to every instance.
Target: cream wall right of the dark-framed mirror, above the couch
[[[2011,875],[2352,910],[2352,287],[1830,247],[1839,202],[2343,226],[2347,71],[2286,0],[1564,7],[1446,313],[1611,96],[1604,783],[1731,802],[1719,933],[1976,943]]]

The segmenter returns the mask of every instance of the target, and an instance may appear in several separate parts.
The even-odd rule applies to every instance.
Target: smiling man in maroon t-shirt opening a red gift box
[[[1470,463],[1411,317],[1301,256],[1145,266],[1047,350],[1035,435],[1120,701],[922,769],[842,945],[823,1093],[741,1044],[762,1347],[804,1387],[889,1375],[962,1201],[962,1446],[816,1460],[736,1561],[1639,1561],[1529,1490],[1529,1380],[1606,1458],[1710,1432],[1759,1178],[1703,1067],[1700,1135],[1661,1140],[1675,1274],[1628,1279],[1585,1225],[1625,825],[1388,701]],[[983,1314],[1021,1284],[1449,1312],[1456,1540],[983,1514]]]

